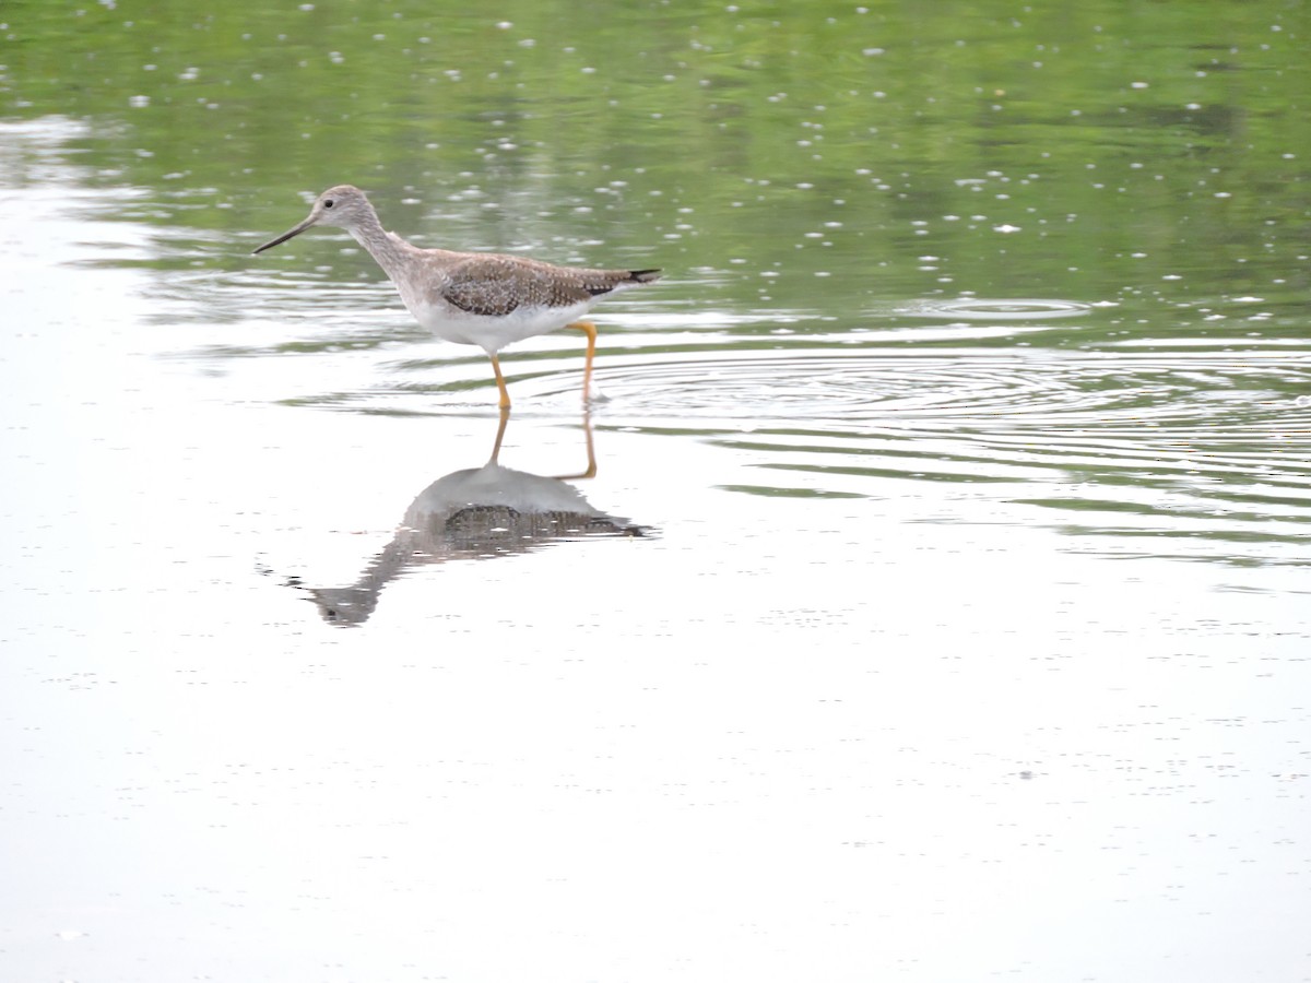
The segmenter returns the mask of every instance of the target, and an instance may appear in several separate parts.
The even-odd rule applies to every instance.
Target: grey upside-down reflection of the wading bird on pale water
[[[501,413],[492,456],[481,468],[438,478],[410,503],[391,543],[349,587],[305,587],[324,620],[357,625],[368,620],[379,595],[395,577],[426,564],[490,560],[593,536],[645,536],[650,530],[607,515],[589,505],[570,480],[597,473],[591,421],[583,417],[587,469],[545,477],[501,465],[509,412]]]

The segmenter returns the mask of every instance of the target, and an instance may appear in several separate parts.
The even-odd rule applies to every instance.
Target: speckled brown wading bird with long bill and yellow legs
[[[501,409],[510,392],[497,353],[506,345],[573,328],[587,336],[582,395],[591,391],[597,328],[579,321],[610,294],[659,279],[659,270],[593,270],[555,266],[523,256],[420,249],[387,232],[364,193],[353,185],[329,187],[309,216],[256,249],[262,253],[313,225],[338,225],[355,237],[383,267],[414,318],[438,338],[477,345],[492,359]]]

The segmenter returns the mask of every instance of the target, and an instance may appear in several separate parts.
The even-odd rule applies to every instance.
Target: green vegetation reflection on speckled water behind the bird
[[[442,8],[10,0],[0,111],[87,121],[127,215],[231,269],[349,180],[402,235],[728,307],[1306,291],[1303,4]]]

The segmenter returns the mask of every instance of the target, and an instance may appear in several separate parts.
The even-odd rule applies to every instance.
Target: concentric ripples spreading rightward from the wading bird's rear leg
[[[953,482],[1109,536],[1116,554],[1311,564],[1307,358],[690,353],[611,362],[598,381],[610,422],[701,430],[749,455],[760,477],[734,490],[889,497],[906,494],[893,482]]]

